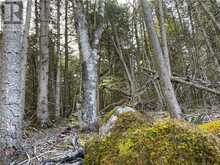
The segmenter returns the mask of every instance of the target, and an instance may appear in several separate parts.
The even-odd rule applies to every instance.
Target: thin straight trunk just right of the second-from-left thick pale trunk
[[[56,110],[55,110],[55,116],[56,119],[60,117],[60,56],[61,56],[61,50],[60,50],[60,17],[61,17],[61,11],[60,11],[60,1],[57,1],[57,51],[56,51]]]

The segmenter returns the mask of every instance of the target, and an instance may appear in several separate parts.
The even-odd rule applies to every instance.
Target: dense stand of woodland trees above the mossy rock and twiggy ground
[[[23,3],[22,24],[2,12],[0,155],[28,128],[74,120],[96,132],[117,106],[194,124],[220,117],[217,0]]]

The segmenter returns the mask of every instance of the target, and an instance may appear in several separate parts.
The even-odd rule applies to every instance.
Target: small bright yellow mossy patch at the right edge
[[[199,128],[209,133],[220,135],[220,119],[199,125]]]

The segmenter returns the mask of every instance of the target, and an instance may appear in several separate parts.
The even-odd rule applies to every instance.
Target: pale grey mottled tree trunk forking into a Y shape
[[[95,130],[97,124],[97,63],[98,63],[98,46],[103,32],[103,18],[105,9],[105,0],[99,1],[99,24],[97,25],[92,45],[89,43],[88,22],[83,12],[82,4],[76,0],[75,17],[78,24],[78,38],[80,52],[82,55],[83,67],[83,109],[80,113],[82,129]]]

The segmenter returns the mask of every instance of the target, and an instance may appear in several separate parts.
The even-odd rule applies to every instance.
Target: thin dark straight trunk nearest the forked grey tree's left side
[[[65,69],[64,69],[64,92],[63,92],[63,116],[68,114],[69,110],[69,83],[68,83],[68,63],[69,63],[69,49],[68,49],[68,0],[65,0]]]

